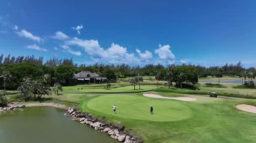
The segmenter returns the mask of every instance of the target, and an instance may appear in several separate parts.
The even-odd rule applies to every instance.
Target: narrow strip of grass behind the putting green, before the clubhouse
[[[83,87],[82,87],[83,86]],[[83,89],[77,89],[77,88]],[[135,90],[133,89],[133,85],[128,85],[125,87],[116,87],[110,89],[101,88],[90,88],[84,87],[84,85],[77,85],[73,87],[63,87],[63,93],[127,93],[127,92],[142,92],[142,91],[150,91],[156,89],[156,85],[141,85],[141,89],[139,90],[139,85],[136,85]]]

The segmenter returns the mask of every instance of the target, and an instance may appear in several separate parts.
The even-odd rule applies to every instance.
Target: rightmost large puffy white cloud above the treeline
[[[160,60],[174,60],[175,56],[170,50],[170,45],[159,45],[159,48],[155,50],[155,53],[158,54]]]

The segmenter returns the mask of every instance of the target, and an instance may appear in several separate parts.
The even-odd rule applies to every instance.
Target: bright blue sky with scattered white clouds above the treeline
[[[256,1],[1,0],[0,51],[77,64],[256,66]]]

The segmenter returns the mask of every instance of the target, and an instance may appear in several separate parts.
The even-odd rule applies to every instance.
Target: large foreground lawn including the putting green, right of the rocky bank
[[[175,93],[157,93],[175,96]],[[179,96],[179,95],[177,95]],[[177,97],[175,96],[175,97]],[[184,95],[186,96],[186,95]],[[193,96],[193,95],[191,95]],[[141,94],[84,95],[81,109],[121,122],[146,142],[254,142],[256,114],[239,111],[238,103],[253,99],[198,97],[195,102],[153,99]],[[117,105],[117,114],[112,111]],[[154,115],[149,107],[154,106]]]

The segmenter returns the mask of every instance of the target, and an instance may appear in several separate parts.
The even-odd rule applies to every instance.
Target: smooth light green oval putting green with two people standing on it
[[[117,113],[113,113],[113,105]],[[154,106],[154,115],[150,114],[150,105]],[[181,101],[150,99],[139,95],[102,95],[82,104],[102,115],[113,115],[135,120],[156,122],[179,121],[192,117],[193,111]]]

